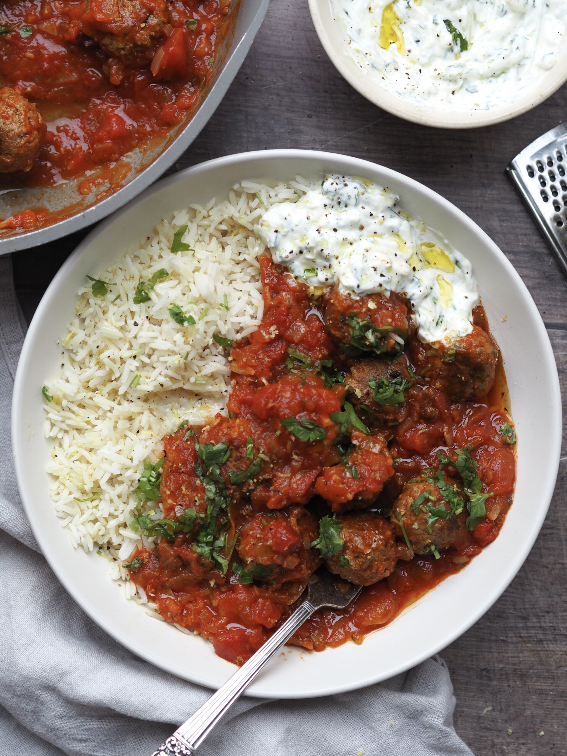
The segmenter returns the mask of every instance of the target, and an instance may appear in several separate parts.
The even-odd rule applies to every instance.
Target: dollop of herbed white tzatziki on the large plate
[[[398,200],[370,181],[327,176],[296,202],[271,206],[255,231],[274,261],[311,287],[403,293],[421,341],[451,343],[470,333],[480,301],[472,266]]]

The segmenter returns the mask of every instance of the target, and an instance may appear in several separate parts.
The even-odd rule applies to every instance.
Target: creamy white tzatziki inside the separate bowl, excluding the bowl
[[[556,62],[565,0],[333,0],[349,51],[389,91],[434,107],[514,101]]]

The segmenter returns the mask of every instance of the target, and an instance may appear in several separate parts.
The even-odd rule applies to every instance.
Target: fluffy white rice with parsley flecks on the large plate
[[[112,285],[107,296],[95,298],[85,278],[76,318],[61,342],[64,366],[48,385],[53,400],[45,401],[45,436],[53,439],[51,497],[74,547],[103,547],[122,561],[141,543],[128,525],[138,516],[132,491],[144,460],[161,456],[163,435],[181,421],[206,423],[225,411],[230,369],[213,335],[241,338],[262,319],[258,257],[265,246],[253,224],[269,206],[298,199],[306,188],[299,177],[275,188],[243,181],[222,203],[212,199],[164,219],[107,271],[87,271]],[[194,251],[172,253],[183,225],[182,240]],[[155,284],[150,301],[134,304],[138,283],[160,268],[168,275]],[[172,303],[196,324],[178,325],[169,314]],[[153,519],[160,519],[160,504],[151,507]],[[114,572],[127,578],[118,562]]]

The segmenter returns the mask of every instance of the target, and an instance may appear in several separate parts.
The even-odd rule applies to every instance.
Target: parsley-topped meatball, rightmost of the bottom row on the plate
[[[445,476],[452,494],[463,500],[463,510],[451,516],[451,504],[442,496],[435,483],[426,480],[409,482],[392,505],[390,521],[398,536],[407,535],[415,553],[446,549],[466,540],[466,513],[464,499],[454,481]],[[452,495],[451,494],[451,495]],[[439,513],[446,512],[447,515]],[[400,523],[404,526],[402,531]]]

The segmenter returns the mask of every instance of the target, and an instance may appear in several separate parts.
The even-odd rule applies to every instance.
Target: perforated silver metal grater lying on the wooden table
[[[506,171],[567,276],[567,124],[528,144]]]

